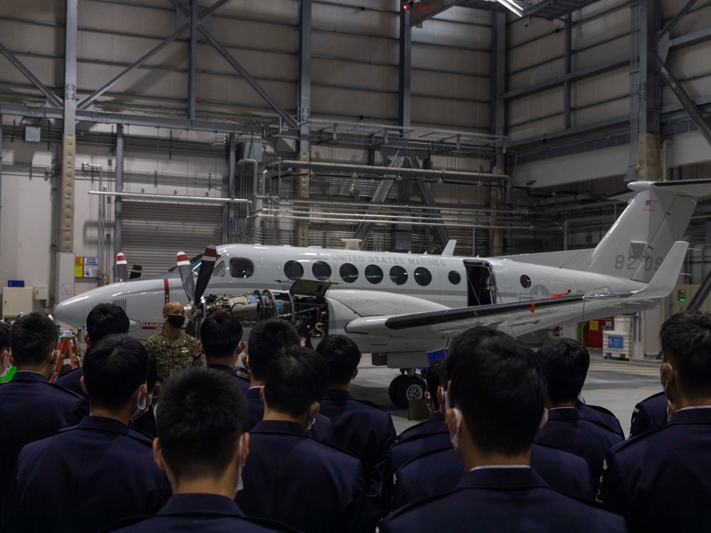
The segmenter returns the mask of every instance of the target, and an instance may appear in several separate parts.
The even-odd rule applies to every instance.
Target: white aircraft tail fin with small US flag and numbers
[[[711,180],[635,181],[638,191],[592,254],[589,272],[648,283],[675,241],[683,240],[697,199]]]

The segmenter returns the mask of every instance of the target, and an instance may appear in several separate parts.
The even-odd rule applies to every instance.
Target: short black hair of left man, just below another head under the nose
[[[92,343],[84,356],[84,384],[89,401],[121,408],[146,382],[149,355],[144,345],[128,335],[107,335]]]

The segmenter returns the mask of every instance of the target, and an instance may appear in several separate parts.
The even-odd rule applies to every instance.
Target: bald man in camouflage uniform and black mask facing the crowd
[[[185,309],[180,302],[166,303],[163,308],[163,331],[146,340],[146,350],[156,362],[158,382],[153,391],[158,400],[163,382],[189,367],[204,367],[197,340],[181,331]]]

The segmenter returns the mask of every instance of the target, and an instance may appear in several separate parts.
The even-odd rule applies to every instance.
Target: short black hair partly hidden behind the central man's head
[[[299,346],[301,337],[294,326],[284,318],[269,318],[259,321],[250,331],[247,355],[250,357],[250,373],[256,379],[265,379],[267,367],[274,355],[289,348]]]

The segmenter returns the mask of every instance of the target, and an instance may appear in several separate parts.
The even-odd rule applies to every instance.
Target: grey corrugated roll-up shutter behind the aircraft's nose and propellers
[[[122,252],[144,274],[159,274],[176,264],[176,253],[188,257],[208,244],[222,244],[223,206],[172,205],[124,200]]]

